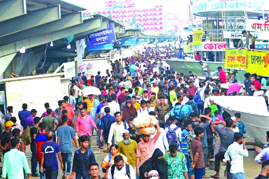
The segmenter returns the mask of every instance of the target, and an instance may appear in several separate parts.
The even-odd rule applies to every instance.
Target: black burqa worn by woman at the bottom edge
[[[151,170],[157,170],[159,173],[159,176],[161,179],[167,179],[167,169],[165,166],[165,160],[164,158],[158,158],[163,157],[163,152],[158,148],[155,149],[152,157],[150,157],[148,160],[146,160],[142,166],[139,168],[140,176],[139,179],[145,179],[145,172],[150,172]],[[148,177],[147,177],[148,178]]]

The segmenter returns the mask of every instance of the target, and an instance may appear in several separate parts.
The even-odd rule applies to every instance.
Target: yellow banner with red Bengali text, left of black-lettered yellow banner
[[[246,69],[247,50],[225,49],[225,68]]]

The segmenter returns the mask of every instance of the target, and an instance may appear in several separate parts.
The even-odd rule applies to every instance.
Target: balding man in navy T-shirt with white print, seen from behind
[[[63,170],[63,160],[62,160],[61,150],[60,150],[59,145],[53,142],[52,132],[48,132],[46,134],[46,138],[48,139],[48,141],[41,146],[40,172],[44,173],[44,169],[45,169],[46,179],[47,178],[57,179],[58,172],[59,172],[57,155],[58,155],[59,161],[61,162],[61,170]]]

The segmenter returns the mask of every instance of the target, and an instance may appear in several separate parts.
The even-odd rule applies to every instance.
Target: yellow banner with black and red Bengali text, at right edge
[[[269,76],[269,52],[247,51],[246,72]]]

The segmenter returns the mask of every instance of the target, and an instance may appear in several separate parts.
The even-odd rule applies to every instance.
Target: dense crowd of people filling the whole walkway
[[[167,47],[165,47],[167,48]],[[189,75],[177,73],[160,57],[165,53],[151,49],[149,53],[134,53],[130,58],[111,62],[112,71],[104,76],[84,73],[70,83],[70,98],[58,101],[58,108],[50,109],[44,104],[44,113],[38,117],[37,110],[22,105],[18,112],[20,124],[12,116],[13,107],[8,106],[4,120],[1,117],[0,149],[3,150],[3,178],[37,177],[57,178],[58,160],[62,178],[99,179],[99,165],[103,178],[109,179],[201,179],[219,178],[221,162],[225,162],[224,175],[231,179],[243,179],[243,157],[248,156],[243,134],[245,124],[241,114],[231,116],[209,97],[227,95],[221,88],[226,75],[218,67],[219,77],[211,90],[212,78],[200,82],[190,71]],[[167,49],[168,50],[168,49]],[[138,55],[140,58],[138,58]],[[132,77],[130,65],[138,67]],[[208,75],[208,66],[200,62],[201,70]],[[246,73],[246,91],[251,96],[258,85],[256,76]],[[253,83],[253,84],[252,84]],[[84,95],[83,89],[92,86],[101,95]],[[259,91],[259,87],[257,89]],[[191,110],[184,118],[175,109],[189,105]],[[132,123],[136,117],[154,116],[158,123],[153,135],[137,134]],[[109,154],[102,163],[96,163],[92,135],[96,132],[96,145],[107,145]],[[269,131],[266,133],[269,141]],[[25,149],[30,145],[31,169],[26,160]],[[95,145],[95,144],[94,144]],[[71,171],[73,147],[74,152]],[[269,175],[269,145],[255,158],[262,165],[256,179]],[[58,159],[57,159],[58,158]],[[215,159],[215,175],[207,176],[209,160]],[[265,160],[262,160],[265,158]],[[66,164],[67,163],[67,164]]]

